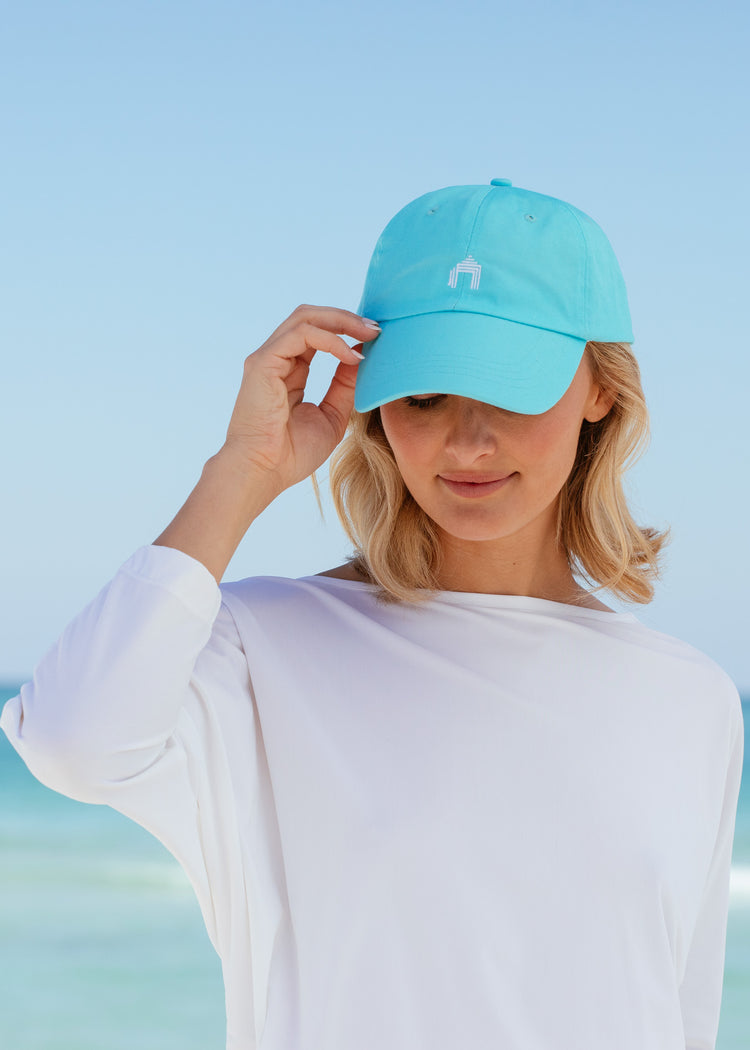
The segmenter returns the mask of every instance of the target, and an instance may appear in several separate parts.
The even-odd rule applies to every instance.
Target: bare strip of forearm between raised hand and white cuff
[[[182,550],[221,583],[241,540],[276,495],[269,471],[250,470],[223,449],[208,460],[200,481],[154,545]]]

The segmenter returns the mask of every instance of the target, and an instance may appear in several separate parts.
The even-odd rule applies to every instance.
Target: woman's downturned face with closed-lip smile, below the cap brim
[[[611,405],[586,355],[563,397],[526,416],[456,395],[424,395],[380,407],[407,488],[433,521],[460,540],[500,540],[528,526],[555,534],[557,500],[576,459],[584,419]],[[546,517],[545,517],[546,516]]]

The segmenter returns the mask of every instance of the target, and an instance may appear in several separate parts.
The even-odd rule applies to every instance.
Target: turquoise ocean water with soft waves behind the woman
[[[0,706],[16,689],[0,688]],[[750,702],[717,1050],[750,1048]],[[143,828],[32,777],[0,732],[0,1047],[222,1050],[224,990],[186,877]]]

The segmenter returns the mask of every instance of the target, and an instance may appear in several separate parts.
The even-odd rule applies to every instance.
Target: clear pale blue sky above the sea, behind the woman
[[[591,215],[625,275],[652,418],[628,491],[672,530],[632,611],[750,694],[749,23],[691,0],[7,5],[0,680],[172,518],[247,354],[300,302],[356,310],[409,201],[504,177]],[[342,562],[324,507],[285,492],[228,579]]]

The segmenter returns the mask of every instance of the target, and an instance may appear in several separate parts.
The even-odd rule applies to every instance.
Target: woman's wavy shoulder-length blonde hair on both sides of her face
[[[596,382],[613,396],[603,419],[583,422],[572,469],[558,500],[558,543],[571,570],[595,590],[627,602],[653,597],[668,531],[639,526],[623,474],[648,442],[641,374],[626,342],[588,342]],[[437,589],[438,527],[401,479],[377,408],[353,413],[334,453],[331,492],[354,545],[352,564],[386,601],[421,602]]]

